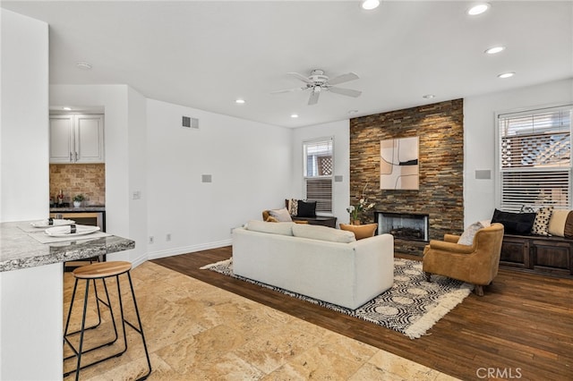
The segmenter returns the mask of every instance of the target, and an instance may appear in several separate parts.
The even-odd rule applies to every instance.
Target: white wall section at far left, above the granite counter
[[[49,213],[47,24],[2,11],[0,221]]]

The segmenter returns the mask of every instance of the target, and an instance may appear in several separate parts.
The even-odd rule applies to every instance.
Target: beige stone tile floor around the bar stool
[[[153,368],[150,380],[456,379],[166,267],[145,262],[132,270],[132,277]],[[127,284],[126,279],[122,293],[126,291],[123,282]],[[109,283],[112,300],[115,287],[115,282]],[[65,273],[64,317],[72,290],[73,276]],[[130,301],[126,296],[124,304]],[[126,310],[128,319],[134,321],[131,305]],[[90,318],[95,316],[90,308]],[[103,317],[100,328],[107,329],[111,326],[107,310]],[[77,302],[73,326],[78,326],[80,318],[81,302]],[[81,379],[141,377],[147,368],[140,336],[129,327],[127,333],[128,351],[84,369]],[[85,345],[109,336],[95,330],[89,334]],[[115,343],[86,356],[87,361],[120,347]],[[64,356],[69,353],[64,347]],[[74,366],[74,360],[64,361],[64,369]]]

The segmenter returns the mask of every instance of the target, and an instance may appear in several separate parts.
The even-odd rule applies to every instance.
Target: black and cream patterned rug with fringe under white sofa
[[[253,281],[233,274],[233,261],[227,259],[201,269],[210,269],[220,274],[233,276],[245,282],[258,284],[271,290],[285,293],[293,298],[308,301],[333,309],[355,318],[393,329],[416,339],[426,333],[451,309],[463,301],[473,290],[473,285],[465,284],[440,275],[432,275],[432,282],[426,282],[422,262],[394,258],[394,285],[372,301],[358,309],[346,309],[325,301],[290,292],[269,284]]]

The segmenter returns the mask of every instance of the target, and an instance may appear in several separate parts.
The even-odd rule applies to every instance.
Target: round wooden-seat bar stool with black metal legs
[[[145,357],[147,358],[147,364],[148,364],[149,371],[144,376],[138,378],[138,380],[146,379],[147,377],[150,376],[150,373],[151,373],[150,354],[149,354],[148,349],[147,349],[147,343],[145,342],[145,335],[143,334],[143,327],[141,326],[141,318],[140,318],[139,309],[137,308],[137,301],[135,301],[135,292],[133,292],[132,275],[130,274],[131,269],[132,269],[132,264],[129,262],[110,261],[110,262],[96,262],[96,263],[93,263],[91,265],[78,267],[78,268],[73,270],[72,274],[75,278],[75,283],[73,284],[72,301],[70,302],[70,309],[68,311],[68,317],[66,319],[65,328],[64,328],[64,345],[66,343],[68,344],[68,346],[73,351],[73,355],[64,358],[64,361],[70,360],[73,358],[77,358],[77,365],[76,365],[76,368],[74,368],[73,370],[64,372],[64,377],[69,376],[73,372],[75,372],[75,379],[78,380],[80,378],[81,369],[88,368],[88,367],[91,367],[93,365],[99,364],[102,361],[109,360],[109,359],[112,359],[114,357],[119,357],[119,356],[123,355],[124,352],[127,351],[127,335],[125,332],[125,325],[131,326],[133,328],[133,330],[135,330],[138,334],[141,334],[141,342],[143,343],[143,349],[145,350]],[[120,282],[119,282],[119,275],[127,275],[127,279],[129,280],[130,289],[132,291],[133,307],[135,309],[135,315],[137,316],[137,326],[134,326],[132,323],[130,323],[129,321],[127,321],[124,318],[124,302],[122,300],[122,292],[121,292],[121,287],[120,287]],[[88,353],[90,351],[96,351],[96,350],[103,348],[105,346],[108,346],[108,345],[112,345],[113,343],[115,343],[117,341],[117,338],[118,338],[117,326],[115,323],[114,311],[112,308],[112,303],[109,299],[109,293],[107,292],[107,284],[106,284],[106,279],[111,278],[111,277],[115,277],[115,283],[117,284],[117,295],[118,295],[118,300],[119,300],[119,309],[120,309],[121,321],[122,321],[122,326],[123,326],[123,331],[124,331],[124,349],[121,351],[118,351],[117,353],[114,353],[110,356],[107,356],[105,359],[93,361],[87,365],[81,365],[81,356],[83,354]],[[96,280],[98,280],[98,279],[101,280],[101,283],[104,286],[104,290],[106,293],[106,300],[102,300],[98,295],[98,287],[96,285]],[[76,294],[76,290],[78,287],[78,282],[80,280],[86,281],[85,282],[86,290],[85,290],[85,295],[84,295],[84,300],[83,300],[83,315],[81,318],[81,328],[78,331],[68,332],[68,328],[70,326],[70,318],[72,316],[73,301],[75,300],[75,294]],[[86,327],[86,315],[87,315],[87,311],[88,311],[90,281],[92,281],[94,292],[95,292],[96,305],[97,305],[97,309],[98,309],[98,322],[93,326]],[[97,346],[94,346],[93,348],[84,350],[83,349],[83,339],[84,339],[85,332],[87,330],[95,329],[101,324],[101,321],[102,321],[101,320],[101,311],[99,308],[100,303],[105,305],[107,307],[107,309],[109,310],[109,314],[111,315],[111,320],[112,320],[113,329],[114,329],[114,333],[115,333],[115,338],[111,342],[102,343],[102,344],[99,344]],[[80,343],[79,343],[79,347],[77,350],[73,346],[73,343],[71,343],[69,340],[69,338],[75,334],[80,334]]]

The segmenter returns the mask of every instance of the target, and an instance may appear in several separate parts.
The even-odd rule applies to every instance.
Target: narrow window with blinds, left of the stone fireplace
[[[303,151],[306,199],[316,201],[317,212],[332,213],[332,138],[305,141]]]

